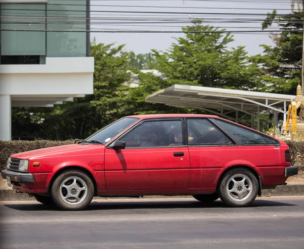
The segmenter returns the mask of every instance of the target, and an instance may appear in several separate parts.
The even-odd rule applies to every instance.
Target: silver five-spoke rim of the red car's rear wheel
[[[226,191],[234,201],[247,200],[252,194],[252,182],[243,174],[234,175],[228,180]]]

